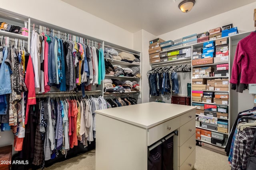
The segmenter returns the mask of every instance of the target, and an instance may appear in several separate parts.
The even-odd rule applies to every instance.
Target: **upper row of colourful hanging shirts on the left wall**
[[[40,31],[33,29],[30,47],[36,92],[48,92],[50,86],[70,91],[101,84],[105,77],[102,48],[86,45],[80,38],[61,39],[54,30],[48,35]]]

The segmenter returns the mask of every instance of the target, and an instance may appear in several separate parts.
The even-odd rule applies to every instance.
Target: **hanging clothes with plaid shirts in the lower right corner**
[[[249,156],[256,155],[256,147],[252,146],[255,130],[256,107],[238,113],[225,148],[232,170],[246,170]]]

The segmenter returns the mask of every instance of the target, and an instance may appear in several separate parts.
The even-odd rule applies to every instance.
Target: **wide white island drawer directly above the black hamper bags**
[[[180,117],[168,120],[155,127],[148,129],[148,146],[152,145],[156,141],[162,139],[172,131],[175,131],[180,127]],[[195,128],[194,128],[195,129]]]

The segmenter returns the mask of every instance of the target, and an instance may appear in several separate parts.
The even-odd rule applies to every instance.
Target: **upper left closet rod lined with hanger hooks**
[[[62,35],[63,37],[65,37],[66,40],[68,40],[68,35],[70,36],[70,40],[72,40],[73,37],[75,37],[75,40],[76,41],[84,41],[84,43],[86,43],[86,45],[90,45],[90,43],[92,42],[92,46],[95,45],[101,45],[101,43],[98,43],[97,41],[93,41],[93,40],[90,40],[90,39],[86,39],[86,38],[83,38],[83,37],[79,37],[79,36],[76,36],[76,35],[72,35],[70,33],[63,33],[61,31],[58,31],[58,30],[55,30],[55,29],[51,29],[51,28],[48,28],[48,27],[45,27],[45,26],[42,26],[42,25],[36,25],[36,24],[30,24],[30,26],[32,27],[36,27],[38,30],[40,29],[40,27],[42,28],[43,32],[46,31],[46,32],[52,32],[54,30],[54,33],[56,33],[57,35],[60,34]],[[72,38],[71,38],[72,37]],[[77,39],[78,38],[78,39]],[[89,44],[88,44],[89,43]],[[95,46],[96,46],[95,45]]]

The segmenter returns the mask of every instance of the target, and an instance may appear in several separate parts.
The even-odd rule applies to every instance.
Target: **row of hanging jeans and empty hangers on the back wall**
[[[152,96],[160,94],[179,93],[179,82],[177,72],[191,72],[191,64],[177,66],[152,68],[148,71],[148,84]]]

